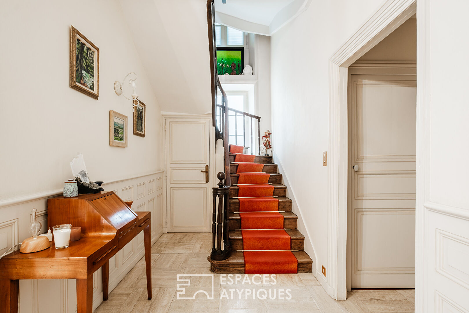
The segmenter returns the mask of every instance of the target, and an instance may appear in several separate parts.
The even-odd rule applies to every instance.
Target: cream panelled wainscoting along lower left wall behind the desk
[[[151,211],[151,244],[154,244],[163,233],[164,196],[163,188],[159,188],[163,176],[164,171],[158,171],[103,184],[105,190],[114,191],[121,199],[133,200],[134,211]],[[157,182],[156,185],[155,182]],[[47,198],[53,196],[53,192],[47,192],[42,198],[30,197],[32,200],[25,201],[18,199],[16,203],[12,201],[11,205],[0,206],[0,255],[14,244],[30,237],[28,225],[33,208],[38,210],[36,216],[42,224],[41,233],[47,232],[49,227],[47,225]],[[142,234],[139,234],[109,260],[109,292],[144,256]],[[102,301],[101,269],[99,269],[93,275],[93,310]],[[76,280],[20,280],[19,302],[18,312],[21,313],[75,313]]]

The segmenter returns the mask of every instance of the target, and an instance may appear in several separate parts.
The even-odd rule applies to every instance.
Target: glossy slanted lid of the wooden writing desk
[[[137,222],[137,215],[115,193],[92,200],[91,204],[119,234]]]

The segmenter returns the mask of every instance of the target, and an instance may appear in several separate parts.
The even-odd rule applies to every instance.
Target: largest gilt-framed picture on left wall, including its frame
[[[99,49],[70,26],[70,87],[98,99]]]

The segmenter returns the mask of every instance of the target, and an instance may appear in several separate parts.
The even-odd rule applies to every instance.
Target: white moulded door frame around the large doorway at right
[[[328,275],[325,277],[317,268],[316,277],[326,292],[338,300],[345,300],[347,296],[348,66],[401,26],[416,11],[416,0],[386,0],[329,59]],[[417,28],[421,25],[420,18],[419,13]],[[420,51],[421,44],[417,40],[417,51]],[[417,107],[418,120],[419,114],[421,112]],[[420,127],[420,122],[417,125]],[[417,133],[417,143],[419,136],[421,134]],[[417,146],[417,154],[418,151]],[[417,178],[417,193],[418,186]],[[416,218],[418,220],[418,215]],[[418,226],[416,229],[418,231]],[[416,273],[416,277],[420,277],[419,274]],[[418,281],[416,286],[419,286]]]

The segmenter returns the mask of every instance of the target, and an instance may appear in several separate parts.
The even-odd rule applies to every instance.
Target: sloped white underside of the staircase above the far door
[[[211,112],[206,0],[120,3],[161,110]]]

